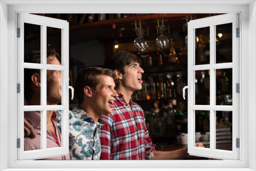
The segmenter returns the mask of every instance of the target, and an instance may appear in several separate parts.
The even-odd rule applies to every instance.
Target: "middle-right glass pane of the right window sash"
[[[216,70],[216,104],[232,105],[232,69]]]

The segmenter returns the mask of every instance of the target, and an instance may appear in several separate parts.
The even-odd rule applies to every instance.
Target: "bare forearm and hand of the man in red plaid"
[[[197,147],[203,147],[203,143],[196,143]],[[189,156],[187,148],[178,149],[175,151],[162,152],[156,151],[152,156],[152,160],[182,160],[185,158],[195,158],[195,156]]]

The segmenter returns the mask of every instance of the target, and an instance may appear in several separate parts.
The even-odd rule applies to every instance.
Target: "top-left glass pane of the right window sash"
[[[195,29],[196,32],[196,65],[210,63],[210,27]]]

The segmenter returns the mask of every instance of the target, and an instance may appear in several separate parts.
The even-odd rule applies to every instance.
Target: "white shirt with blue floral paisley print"
[[[60,114],[58,112],[58,114]],[[61,116],[57,114],[57,118]],[[59,120],[60,122],[60,120]],[[69,154],[71,160],[99,160],[101,153],[99,129],[104,122],[95,122],[86,112],[74,107],[69,112]]]

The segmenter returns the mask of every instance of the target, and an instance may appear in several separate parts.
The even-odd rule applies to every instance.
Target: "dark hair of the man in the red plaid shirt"
[[[124,74],[124,67],[130,65],[131,62],[140,63],[138,56],[131,52],[120,51],[113,53],[110,57],[106,58],[104,67],[113,71],[119,70]]]

